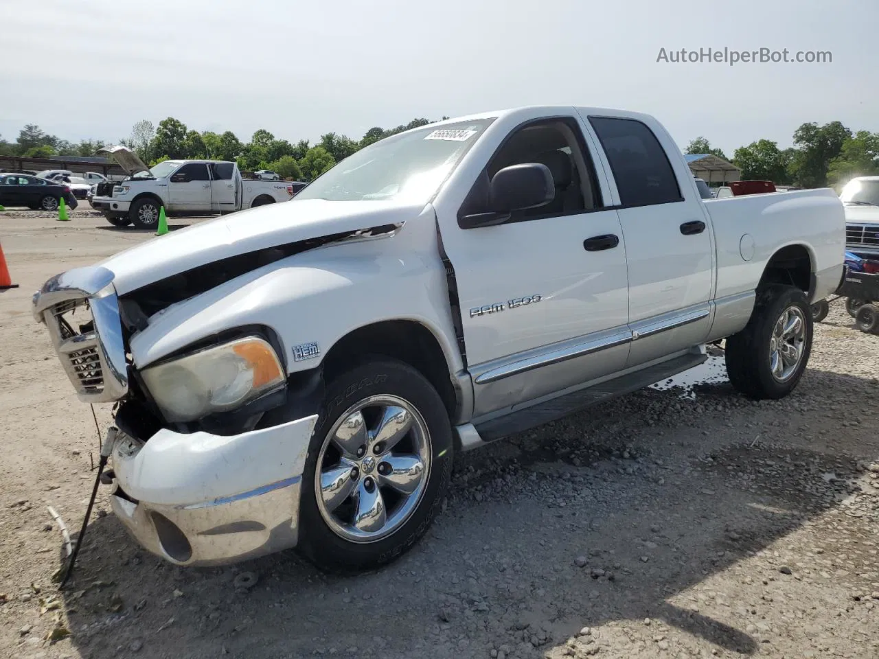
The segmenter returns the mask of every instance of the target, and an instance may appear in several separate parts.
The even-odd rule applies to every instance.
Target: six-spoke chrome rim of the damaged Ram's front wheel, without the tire
[[[377,395],[353,405],[317,456],[315,498],[323,521],[352,542],[386,538],[418,508],[431,455],[427,424],[410,402]]]

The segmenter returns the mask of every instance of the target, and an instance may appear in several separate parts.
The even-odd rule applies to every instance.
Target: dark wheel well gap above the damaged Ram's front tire
[[[430,329],[414,321],[376,322],[355,329],[327,352],[324,378],[329,380],[367,354],[399,359],[416,368],[437,390],[449,417],[454,417],[458,399],[448,375],[446,355]]]

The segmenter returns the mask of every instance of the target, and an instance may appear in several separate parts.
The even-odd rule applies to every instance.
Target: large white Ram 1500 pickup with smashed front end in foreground
[[[289,203],[64,272],[33,313],[80,399],[119,402],[106,480],[149,551],[361,570],[424,534],[455,453],[706,344],[742,394],[788,395],[844,243],[831,190],[704,201],[649,115],[528,107],[377,141]]]

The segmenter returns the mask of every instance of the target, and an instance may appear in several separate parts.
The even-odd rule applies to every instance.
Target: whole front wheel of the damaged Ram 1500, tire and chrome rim
[[[298,551],[329,572],[394,561],[447,488],[452,427],[411,366],[376,357],[331,378],[302,475]]]

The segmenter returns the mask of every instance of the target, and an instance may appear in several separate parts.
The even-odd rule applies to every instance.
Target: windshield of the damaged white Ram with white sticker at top
[[[329,201],[394,199],[427,203],[491,119],[476,119],[393,135],[361,148],[295,197]]]

